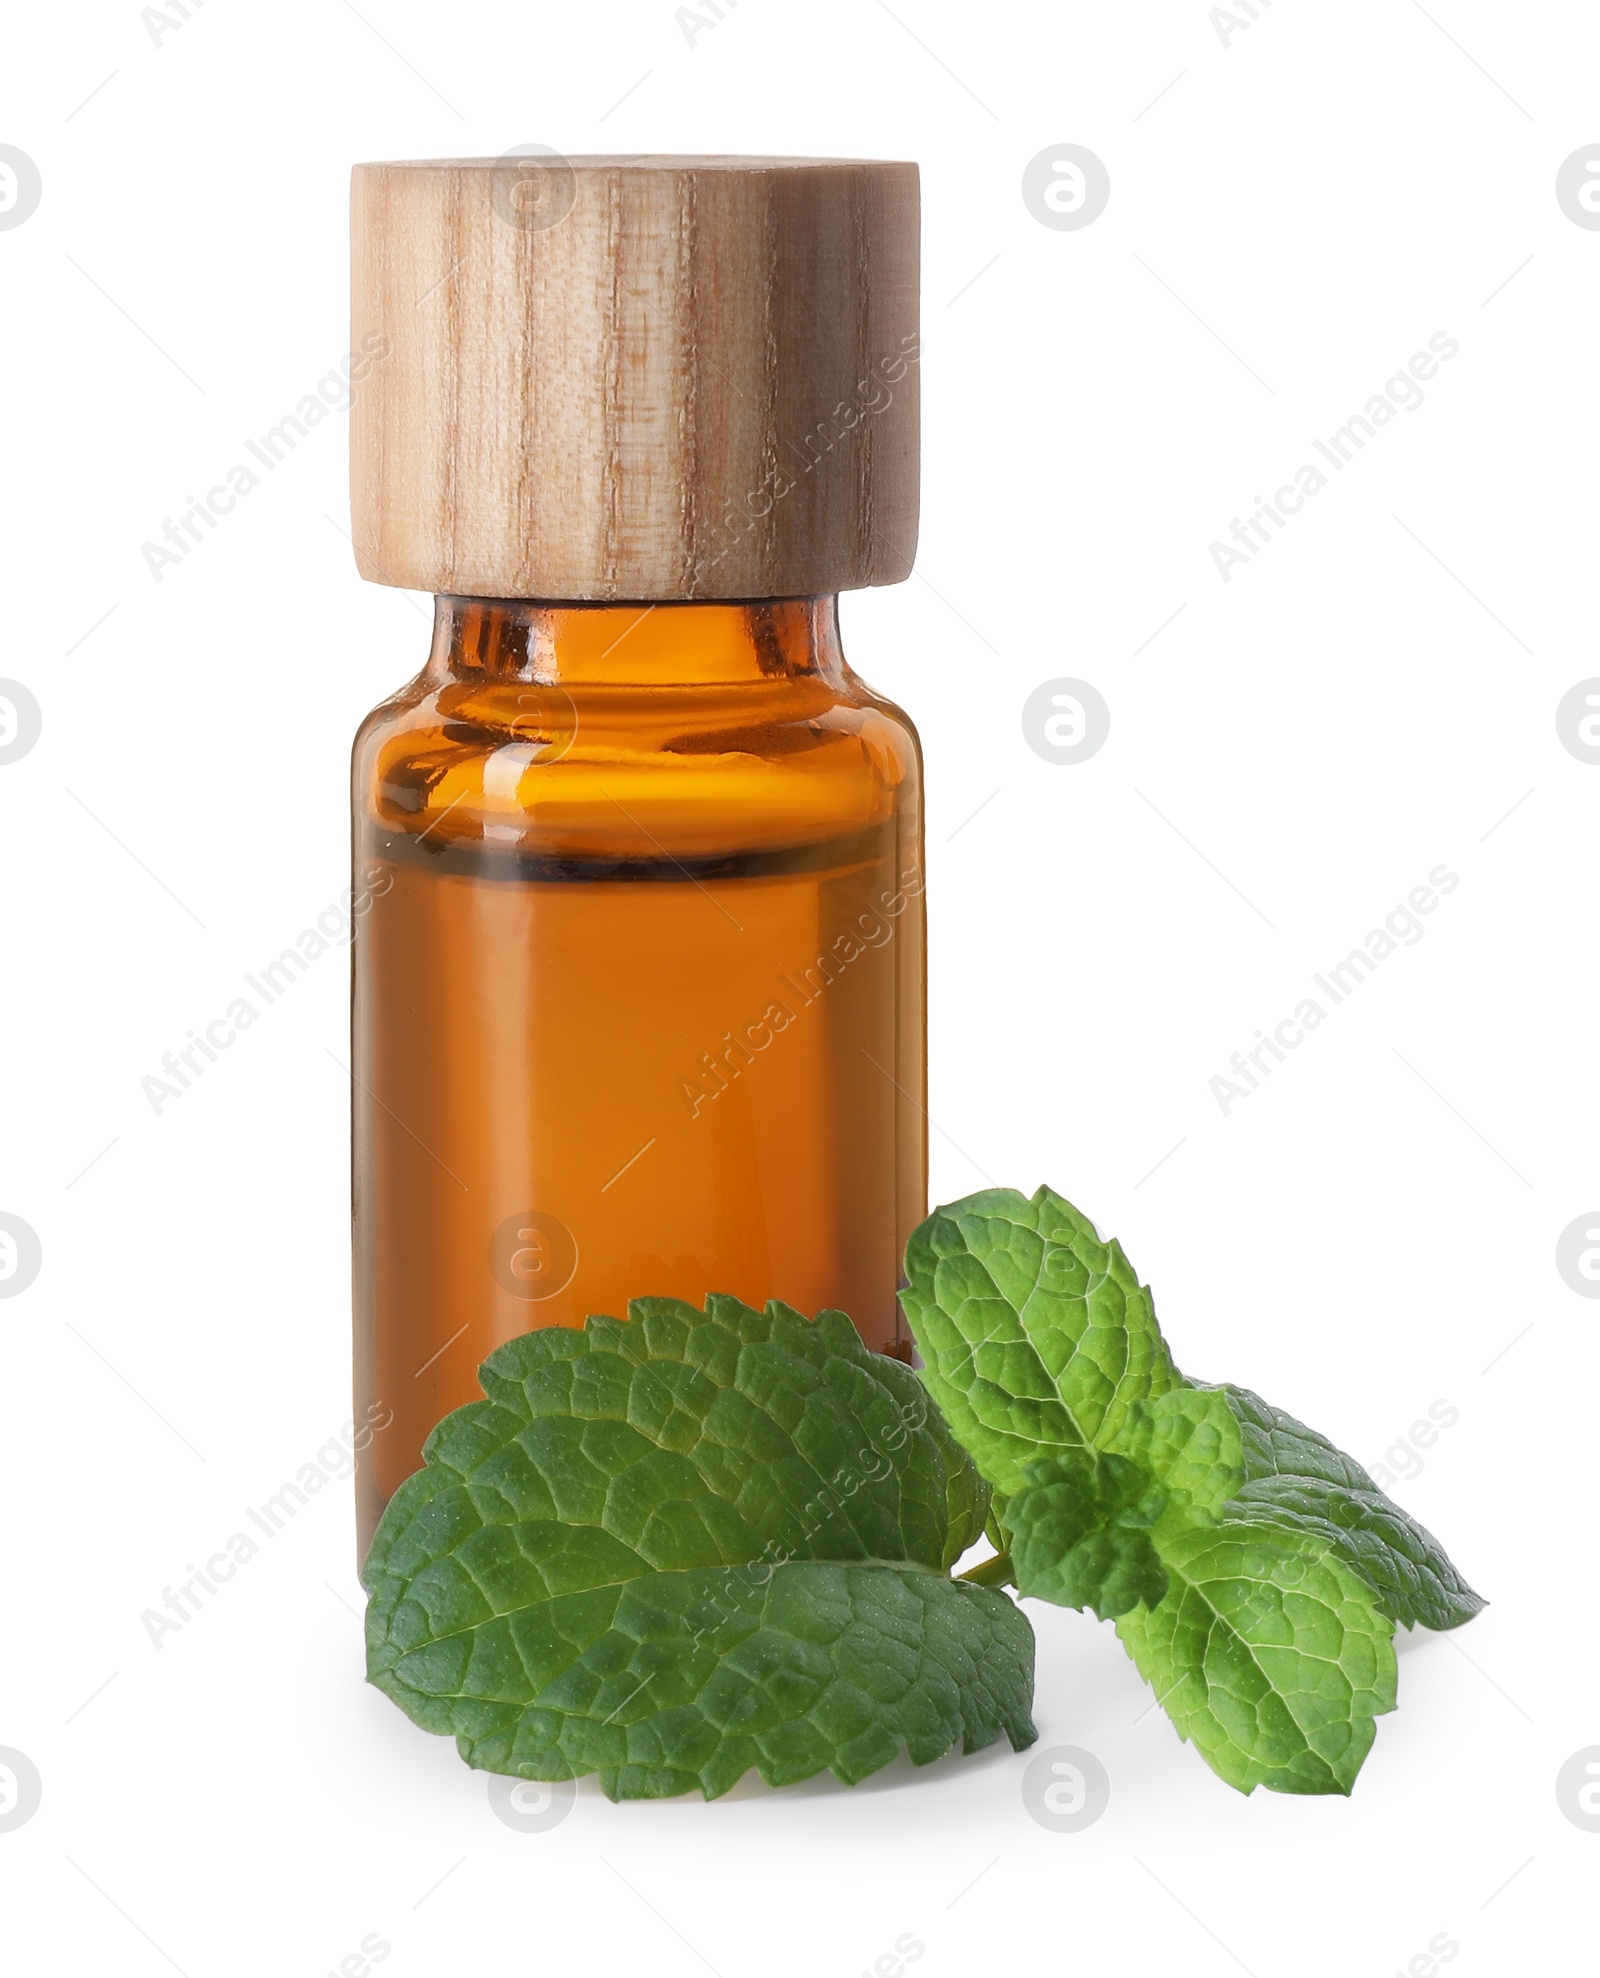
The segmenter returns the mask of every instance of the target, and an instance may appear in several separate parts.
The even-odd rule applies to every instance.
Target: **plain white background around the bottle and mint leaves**
[[[1226,42],[1200,0],[742,0],[692,45],[667,0],[12,14],[10,1970],[316,1978],[372,1933],[396,1978],[848,1978],[906,1933],[928,1978],[1351,1978],[1440,1933],[1464,1974],[1580,1968],[1600,1311],[1555,1244],[1600,1199],[1600,769],[1555,708],[1600,673],[1600,233],[1555,174],[1598,63],[1576,0],[1276,0]],[[1111,1776],[1088,1832],[1001,1747],[714,1806],[587,1782],[516,1834],[362,1685],[348,1484],[146,1638],[348,1414],[344,953],[160,1118],[140,1080],[344,886],[350,734],[427,619],[356,580],[342,419],[160,584],[140,544],[342,356],[350,162],[518,142],[922,162],[922,552],[844,635],[928,748],[933,1197],[1048,1179],[1181,1365],[1369,1464],[1460,1410],[1394,1491],[1491,1606],[1402,1644],[1349,1802],[1236,1796],[1110,1628],[1038,1608],[1042,1745]],[[1082,231],[1019,190],[1060,142],[1111,176]],[[1426,404],[1224,584],[1208,544],[1438,330]],[[1078,767],[1021,732],[1062,674],[1111,708]],[[1224,1116],[1230,1052],[1440,862],[1426,936]]]

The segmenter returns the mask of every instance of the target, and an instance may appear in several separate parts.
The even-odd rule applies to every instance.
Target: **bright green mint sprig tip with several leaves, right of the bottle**
[[[995,1487],[981,1584],[1115,1618],[1181,1737],[1240,1792],[1349,1792],[1394,1709],[1394,1626],[1479,1608],[1331,1442],[1175,1367],[1115,1240],[1050,1189],[930,1216],[902,1304]]]

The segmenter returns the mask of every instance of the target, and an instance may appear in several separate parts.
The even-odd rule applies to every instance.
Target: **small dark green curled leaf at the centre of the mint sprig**
[[[1165,1509],[1167,1491],[1123,1456],[1068,1450],[1028,1464],[1007,1505],[1017,1590],[1102,1620],[1155,1606],[1167,1571],[1149,1527]]]

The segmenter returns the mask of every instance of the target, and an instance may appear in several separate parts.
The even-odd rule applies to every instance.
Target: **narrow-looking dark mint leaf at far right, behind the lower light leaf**
[[[1242,1430],[1236,1517],[1315,1531],[1378,1596],[1390,1620],[1460,1628],[1483,1608],[1440,1541],[1386,1497],[1359,1462],[1250,1389],[1224,1387]]]

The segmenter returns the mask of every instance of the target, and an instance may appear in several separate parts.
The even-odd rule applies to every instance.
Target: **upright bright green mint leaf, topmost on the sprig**
[[[1007,1495],[1042,1456],[1117,1446],[1133,1404],[1177,1385],[1121,1246],[1050,1189],[935,1211],[912,1234],[906,1278],[928,1391]]]

